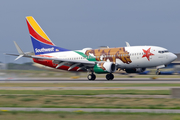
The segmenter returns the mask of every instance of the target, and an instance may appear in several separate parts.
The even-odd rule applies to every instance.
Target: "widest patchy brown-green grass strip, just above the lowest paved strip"
[[[33,91],[34,92],[34,91]],[[37,91],[35,91],[37,92]],[[1,95],[1,107],[179,109],[179,99],[58,95]]]

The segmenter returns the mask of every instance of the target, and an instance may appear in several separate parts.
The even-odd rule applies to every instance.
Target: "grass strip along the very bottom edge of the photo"
[[[110,112],[0,112],[2,120],[180,120],[180,114]]]

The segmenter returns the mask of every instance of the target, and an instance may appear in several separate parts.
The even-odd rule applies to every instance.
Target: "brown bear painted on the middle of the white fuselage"
[[[116,63],[116,59],[119,59],[126,64],[132,62],[129,52],[126,51],[124,47],[87,50],[85,54],[87,56],[94,55],[97,61],[109,60],[110,62]]]

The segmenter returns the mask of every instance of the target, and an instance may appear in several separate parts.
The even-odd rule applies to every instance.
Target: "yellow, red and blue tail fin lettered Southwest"
[[[69,51],[68,49],[55,46],[32,16],[26,17],[26,22],[35,55]]]

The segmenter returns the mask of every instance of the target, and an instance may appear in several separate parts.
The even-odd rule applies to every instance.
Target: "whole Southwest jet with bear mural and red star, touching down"
[[[56,46],[42,30],[32,16],[26,17],[34,54],[24,53],[21,48],[15,46],[21,57],[32,58],[35,63],[55,69],[67,71],[89,72],[88,80],[95,80],[97,74],[106,74],[107,80],[113,80],[117,69],[127,73],[140,73],[146,68],[156,67],[156,74],[159,69],[166,67],[174,61],[177,56],[167,49],[157,46],[130,46],[117,48],[84,48],[82,50],[69,50]]]

